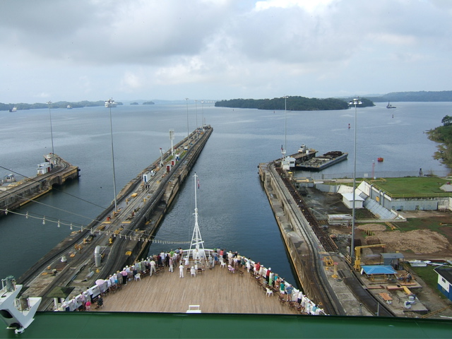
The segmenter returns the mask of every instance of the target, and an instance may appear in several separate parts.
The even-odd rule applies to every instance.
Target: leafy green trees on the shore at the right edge
[[[446,115],[441,120],[443,126],[428,131],[429,139],[440,143],[434,158],[441,160],[447,167],[452,169],[452,117]]]

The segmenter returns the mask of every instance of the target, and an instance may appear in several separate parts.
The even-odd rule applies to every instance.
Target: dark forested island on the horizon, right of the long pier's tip
[[[352,100],[352,99],[351,99]],[[374,102],[364,98],[359,98],[362,105],[359,107],[375,106]],[[348,109],[350,106],[345,99],[335,99],[329,97],[327,99],[317,99],[315,97],[287,97],[287,102],[284,97],[275,97],[273,99],[232,99],[221,100],[215,102],[215,107],[230,107],[230,108],[256,108],[256,109],[285,109],[289,111],[324,111],[331,109]]]

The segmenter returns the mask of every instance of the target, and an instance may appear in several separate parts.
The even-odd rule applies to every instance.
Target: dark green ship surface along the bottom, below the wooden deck
[[[40,312],[0,338],[451,338],[452,321],[364,316]]]

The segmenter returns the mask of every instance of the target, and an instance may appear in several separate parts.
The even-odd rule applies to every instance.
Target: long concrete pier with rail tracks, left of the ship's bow
[[[40,310],[53,309],[55,287],[69,287],[66,297],[78,295],[98,278],[147,256],[160,222],[212,132],[210,126],[196,129],[174,145],[174,155],[171,150],[162,153],[121,189],[117,210],[112,203],[18,279],[28,287],[28,295],[42,297]]]

